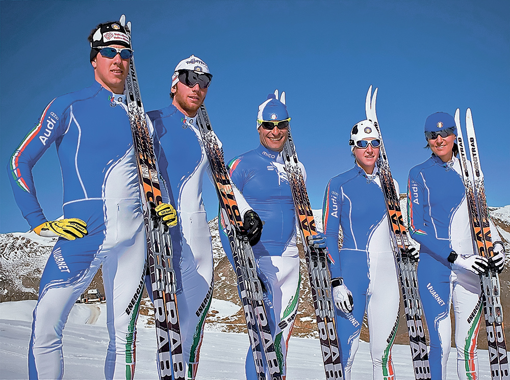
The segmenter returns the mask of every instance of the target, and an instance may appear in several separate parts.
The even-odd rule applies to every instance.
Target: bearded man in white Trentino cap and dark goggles
[[[172,103],[147,113],[157,135],[155,151],[159,169],[168,190],[170,203],[179,213],[179,228],[171,230],[174,255],[182,257],[182,288],[177,289],[177,307],[181,323],[183,356],[187,379],[198,369],[203,327],[213,295],[213,247],[202,201],[203,176],[209,163],[196,127],[196,113],[206,98],[212,75],[209,66],[191,56],[179,62],[172,75]],[[171,186],[170,186],[171,185]],[[248,237],[258,239],[262,223],[256,213],[234,189]],[[156,207],[165,220],[168,204]],[[182,251],[182,252],[177,252]]]

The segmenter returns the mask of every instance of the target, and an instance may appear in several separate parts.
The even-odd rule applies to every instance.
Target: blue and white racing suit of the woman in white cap
[[[398,327],[400,293],[379,176],[370,179],[355,164],[329,180],[322,209],[331,278],[343,277],[353,298],[352,312],[345,314],[335,308],[345,378],[350,379],[367,312],[373,378],[394,379],[391,348]],[[339,232],[343,234],[340,250]]]

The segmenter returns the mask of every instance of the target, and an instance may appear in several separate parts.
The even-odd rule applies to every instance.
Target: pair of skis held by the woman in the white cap
[[[391,231],[391,245],[395,257],[395,265],[402,290],[402,298],[404,300],[405,319],[407,322],[407,332],[409,333],[409,343],[411,347],[411,355],[413,358],[413,367],[415,378],[429,379],[430,367],[428,364],[427,343],[425,339],[425,330],[423,328],[422,307],[420,294],[418,293],[418,278],[416,275],[416,262],[407,257],[402,256],[401,252],[405,251],[409,246],[409,236],[405,230],[402,220],[402,212],[399,204],[399,194],[395,189],[393,177],[390,171],[390,164],[382,142],[382,134],[380,132],[379,123],[375,113],[375,99],[377,97],[377,88],[372,95],[372,86],[368,89],[367,99],[365,102],[365,112],[367,119],[372,121],[377,128],[380,139],[380,154],[377,159],[377,168],[379,179],[381,182],[382,193],[386,201],[386,210],[388,212],[388,223]]]

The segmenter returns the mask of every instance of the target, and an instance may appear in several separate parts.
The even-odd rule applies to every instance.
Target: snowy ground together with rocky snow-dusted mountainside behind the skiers
[[[402,211],[405,214],[405,207],[402,207]],[[508,252],[510,248],[508,245],[510,241],[510,205],[490,208],[490,212]],[[314,210],[314,215],[318,229],[322,230],[321,210]],[[406,220],[405,215],[404,220]],[[244,316],[239,306],[232,267],[221,248],[216,221],[211,221],[209,226],[213,235],[215,291],[206,320],[206,335],[202,344],[198,375],[201,379],[243,378],[243,363],[248,340],[246,335],[234,333],[245,330]],[[56,239],[41,238],[34,233],[0,234],[0,301],[37,298],[40,275],[55,242]],[[306,269],[304,262],[302,264],[301,270],[304,275]],[[510,310],[508,310],[510,281],[508,278],[507,266],[501,275],[505,315],[510,315]],[[293,337],[289,344],[288,378],[322,379],[324,375],[318,341],[310,339],[316,337],[317,332],[315,320],[311,317],[313,308],[310,300],[309,282],[305,276],[303,276],[301,284],[301,301]],[[93,287],[97,287],[97,285]],[[139,351],[137,356],[139,361],[136,378],[156,378],[154,318],[151,316],[153,312],[148,301],[144,300],[144,304],[146,307],[142,308],[141,312],[147,315],[141,315],[138,321]],[[0,378],[26,378],[27,376],[27,347],[34,305],[35,301],[0,303]],[[65,378],[104,378],[103,361],[108,343],[104,307],[105,305],[74,306],[64,334]],[[367,336],[363,334],[362,339],[367,340]],[[408,341],[406,333],[402,334],[400,339],[402,343]],[[480,339],[482,342],[486,339],[483,333],[480,333]],[[397,342],[399,341],[397,340]],[[370,378],[371,364],[368,345],[365,342],[360,343],[360,351],[356,356],[353,368],[355,374],[352,377],[353,380]],[[228,352],[226,358],[225,352]],[[487,351],[482,351],[480,357],[483,370],[481,378],[488,379],[490,378],[488,368],[483,367],[488,362]],[[394,348],[393,359],[397,378],[413,378],[412,372],[409,372],[411,368],[409,345],[397,344]],[[86,373],[83,372],[83,363],[87,365]],[[448,365],[448,378],[456,378],[453,353],[450,354]]]

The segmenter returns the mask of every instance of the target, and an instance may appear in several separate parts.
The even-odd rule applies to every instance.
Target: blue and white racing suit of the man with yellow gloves
[[[103,265],[110,343],[105,376],[131,379],[143,290],[145,233],[133,138],[123,95],[94,83],[48,104],[11,157],[14,197],[32,228],[46,222],[32,167],[55,142],[62,169],[64,218],[87,223],[88,235],[59,238],[33,313],[31,379],[63,375],[62,333],[75,300]]]

